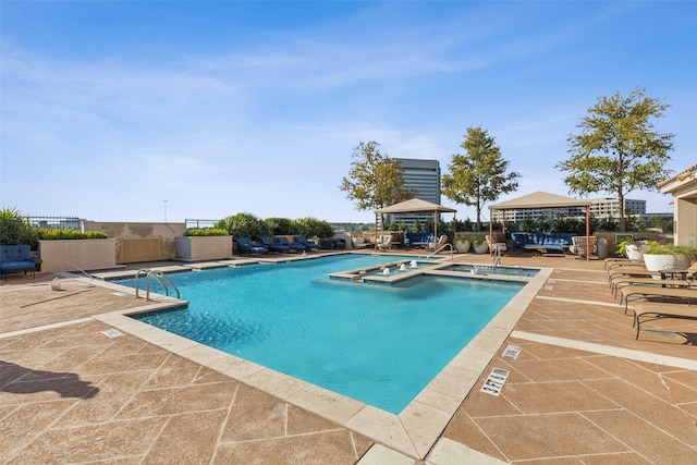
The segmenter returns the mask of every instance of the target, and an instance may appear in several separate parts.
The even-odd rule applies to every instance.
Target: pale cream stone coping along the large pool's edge
[[[230,265],[230,261],[216,261],[197,264],[195,268],[205,269]],[[167,268],[169,272],[175,271],[172,268],[175,268],[176,271],[189,271],[192,265]],[[158,296],[158,302],[151,302],[144,307],[95,315],[93,318],[334,421],[390,449],[423,460],[436,445],[460,405],[473,390],[485,368],[501,350],[518,319],[553,271],[552,268],[535,268],[539,269],[539,272],[533,278],[526,278],[527,284],[399,415],[390,414],[129,317],[129,315],[138,313],[185,305],[185,301]],[[135,294],[135,290],[131,287],[109,282],[100,282],[99,284],[119,292]]]

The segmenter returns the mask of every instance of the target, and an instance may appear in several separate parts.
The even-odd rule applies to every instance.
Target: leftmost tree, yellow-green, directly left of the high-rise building
[[[402,166],[380,154],[379,146],[375,140],[358,143],[348,176],[341,180],[339,188],[346,198],[356,200],[356,210],[383,208],[414,197],[414,191],[404,187]]]

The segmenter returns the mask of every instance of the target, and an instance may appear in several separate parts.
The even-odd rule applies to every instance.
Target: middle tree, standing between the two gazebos
[[[518,188],[521,174],[506,172],[509,161],[501,157],[501,149],[481,126],[467,127],[461,147],[466,155],[453,155],[448,164],[450,174],[443,174],[441,191],[456,204],[477,209],[477,231],[481,231],[481,208],[485,201],[493,201],[501,194]]]

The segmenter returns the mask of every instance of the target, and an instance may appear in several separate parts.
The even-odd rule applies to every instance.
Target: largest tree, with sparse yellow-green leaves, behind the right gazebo
[[[660,134],[652,118],[663,118],[670,105],[635,88],[628,97],[616,93],[600,97],[576,126],[580,134],[567,137],[571,158],[557,164],[568,175],[572,193],[607,192],[620,201],[620,232],[626,231],[624,198],[635,189],[658,191],[671,174],[664,168],[673,149],[673,134]]]

